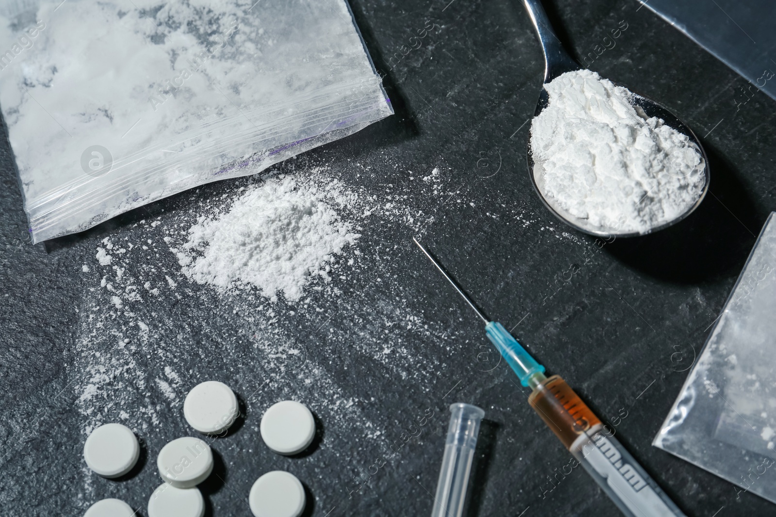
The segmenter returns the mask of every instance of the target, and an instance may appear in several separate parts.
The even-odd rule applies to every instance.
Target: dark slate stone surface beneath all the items
[[[736,110],[735,91],[746,81],[638,9],[639,2],[546,4],[577,57],[627,22],[616,47],[590,67],[663,103],[702,137],[712,184],[688,219],[600,250],[587,236],[562,235],[566,229],[542,207],[526,171],[525,122],[543,63],[521,2],[352,2],[376,67],[387,74],[396,115],[307,153],[309,163],[327,164],[379,202],[399,196],[423,221],[433,215],[421,233],[449,271],[602,418],[628,412],[618,438],[684,512],[771,515],[771,503],[736,497],[732,484],[650,443],[760,226],[776,209],[776,103],[758,93]],[[431,24],[421,48],[391,60]],[[467,515],[618,515],[580,469],[549,491],[547,477],[569,463],[569,453],[528,407],[508,368],[493,366],[497,357],[488,353],[480,322],[411,245],[415,229],[387,215],[362,225],[362,259],[347,280],[337,281],[341,295],[313,294],[307,308],[279,302],[265,326],[244,317],[266,312],[265,301],[229,302],[191,284],[166,246],[138,259],[127,255],[138,271],[154,260],[147,278],[164,285],[165,275],[173,275],[178,288],[130,307],[151,327],[153,346],[133,357],[145,384],[116,377],[123,383],[113,391],[116,399],[106,398],[99,409],[106,421],[123,410],[130,425],[147,424],[138,430],[144,464],[123,481],[88,474],[81,458],[87,417],[79,398],[94,356],[85,359],[84,343],[123,353],[116,352],[118,339],[141,339],[137,326],[114,318],[99,306],[104,297],[90,291],[103,273],[94,267],[82,273],[81,265],[95,264],[95,247],[106,236],[156,243],[162,234],[143,219],[159,220],[159,229],[181,221],[190,226],[192,205],[233,197],[246,181],[210,184],[33,246],[7,143],[0,160],[2,515],[82,515],[105,497],[123,498],[146,515],[147,498],[160,482],[156,453],[169,439],[191,433],[179,400],[206,378],[230,384],[245,411],[240,429],[213,442],[220,461],[202,487],[209,515],[250,515],[248,490],[273,469],[289,470],[306,485],[307,515],[428,515],[446,406],[456,401],[487,413]],[[428,198],[416,187],[417,176],[433,167],[440,167],[449,195]],[[563,281],[573,264],[579,271]],[[89,311],[115,327],[91,329]],[[259,334],[296,343],[302,364],[273,367],[251,346]],[[393,349],[392,359],[375,360],[363,343],[383,343]],[[164,361],[151,353],[157,349]],[[168,378],[165,366],[173,359],[181,377],[177,405],[154,388],[154,379]],[[131,396],[121,395],[124,384]],[[310,453],[279,457],[261,442],[260,416],[282,398],[299,398],[315,412],[319,437]],[[343,400],[350,402],[335,403]],[[365,474],[411,422],[430,412],[419,436],[376,474]],[[359,472],[369,481],[355,491]]]

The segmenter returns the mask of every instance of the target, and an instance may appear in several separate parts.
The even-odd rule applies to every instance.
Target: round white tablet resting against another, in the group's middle
[[[176,488],[192,488],[213,471],[213,451],[199,438],[185,436],[172,440],[156,459],[161,478]]]

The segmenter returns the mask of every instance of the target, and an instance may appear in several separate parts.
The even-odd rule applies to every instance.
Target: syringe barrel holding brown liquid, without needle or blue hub
[[[528,403],[624,515],[684,515],[562,378],[542,381]]]

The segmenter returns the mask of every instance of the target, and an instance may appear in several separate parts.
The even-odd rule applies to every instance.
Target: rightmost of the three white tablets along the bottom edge
[[[299,517],[304,510],[304,488],[296,476],[272,470],[251,487],[248,504],[256,517]]]

